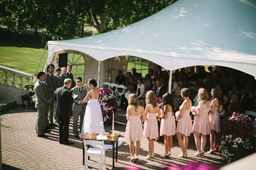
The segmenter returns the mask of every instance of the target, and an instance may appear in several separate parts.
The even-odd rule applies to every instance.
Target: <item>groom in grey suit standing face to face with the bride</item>
[[[75,134],[75,138],[79,139],[79,132],[78,132],[78,117],[80,116],[80,124],[79,124],[79,130],[81,132],[82,130],[82,123],[83,123],[83,117],[84,117],[84,111],[86,110],[86,104],[83,103],[83,99],[87,95],[87,90],[82,85],[82,78],[77,77],[76,78],[76,86],[71,89],[71,91],[78,95],[74,99],[73,103],[73,132]]]

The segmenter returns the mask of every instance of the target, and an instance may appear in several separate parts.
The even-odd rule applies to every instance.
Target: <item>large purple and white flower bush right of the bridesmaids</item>
[[[220,156],[228,163],[252,154],[255,138],[252,120],[245,114],[233,112],[221,122],[221,142],[217,144]]]

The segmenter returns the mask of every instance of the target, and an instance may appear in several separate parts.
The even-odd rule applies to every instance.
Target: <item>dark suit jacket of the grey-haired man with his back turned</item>
[[[57,101],[56,114],[60,115],[64,121],[70,119],[74,99],[68,87],[63,86],[57,89],[55,101]]]

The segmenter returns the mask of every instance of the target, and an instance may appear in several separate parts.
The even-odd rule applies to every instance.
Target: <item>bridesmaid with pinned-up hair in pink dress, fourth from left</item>
[[[176,129],[176,136],[181,148],[182,153],[178,155],[178,157],[184,157],[187,156],[187,144],[188,144],[188,136],[190,136],[190,133],[193,133],[192,129],[192,120],[189,115],[190,108],[192,106],[192,102],[189,99],[190,95],[190,89],[189,88],[183,88],[181,90],[181,96],[184,99],[184,102],[180,106],[180,114],[176,118],[178,122],[177,129]],[[182,140],[183,136],[183,140]]]

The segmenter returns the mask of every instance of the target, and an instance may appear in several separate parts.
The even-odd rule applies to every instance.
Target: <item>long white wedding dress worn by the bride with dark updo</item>
[[[103,117],[102,117],[102,111],[101,111],[98,99],[89,99],[87,103],[86,113],[84,114],[80,136],[84,135],[87,132],[90,132],[91,122],[92,122],[92,133],[100,133],[100,123],[103,122]],[[103,133],[105,133],[104,128],[103,128]]]

